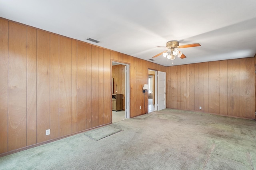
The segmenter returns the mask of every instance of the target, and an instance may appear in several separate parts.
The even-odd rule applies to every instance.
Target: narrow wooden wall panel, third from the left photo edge
[[[36,29],[27,28],[27,145],[36,144]]]

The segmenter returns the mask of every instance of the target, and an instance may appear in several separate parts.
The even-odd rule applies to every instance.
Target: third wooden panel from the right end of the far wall
[[[232,116],[240,116],[240,59],[232,60]]]

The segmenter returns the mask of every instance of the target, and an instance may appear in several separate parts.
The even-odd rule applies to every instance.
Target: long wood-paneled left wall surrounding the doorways
[[[166,67],[0,18],[0,154],[111,123],[112,60],[130,64],[131,117],[147,113],[148,68]]]

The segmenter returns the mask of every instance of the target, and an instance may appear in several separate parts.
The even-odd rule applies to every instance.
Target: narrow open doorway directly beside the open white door
[[[148,69],[148,113],[157,110],[157,71]]]

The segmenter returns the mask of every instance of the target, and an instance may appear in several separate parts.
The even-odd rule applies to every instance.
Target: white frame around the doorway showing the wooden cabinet
[[[126,74],[125,74],[125,118],[130,119],[130,63],[124,63],[121,61],[116,61],[111,59],[111,87],[113,87],[112,83],[112,66],[113,63],[121,64],[126,66]],[[112,123],[112,92],[111,92],[111,123]]]

